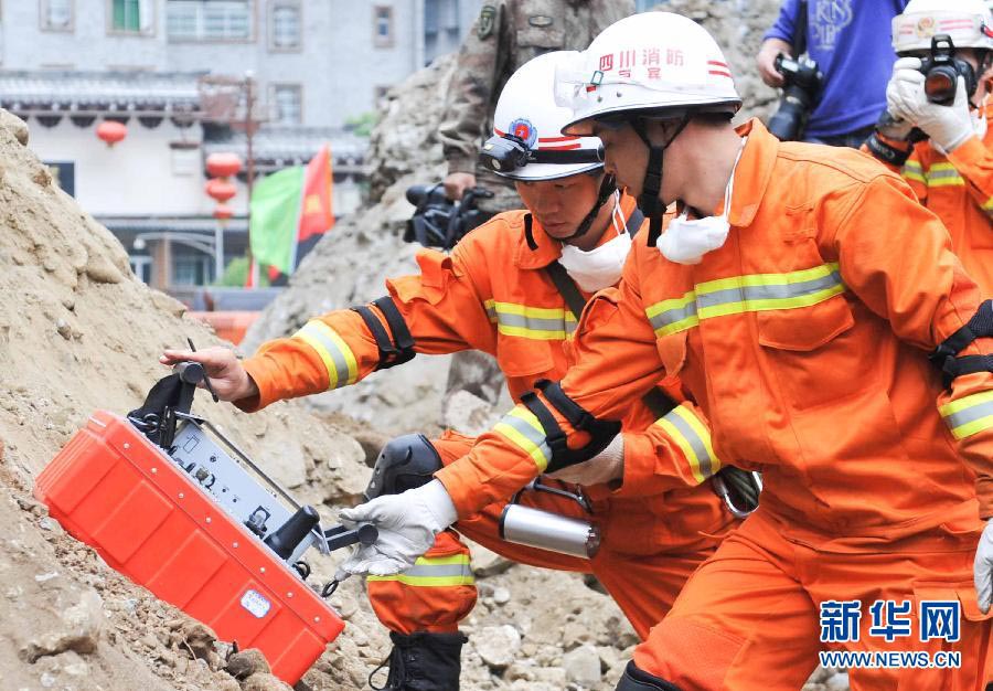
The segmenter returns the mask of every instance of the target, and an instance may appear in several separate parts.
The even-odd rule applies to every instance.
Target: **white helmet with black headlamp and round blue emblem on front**
[[[562,134],[573,111],[555,104],[555,72],[578,55],[538,55],[508,79],[481,153],[488,168],[513,180],[554,180],[604,167],[598,137]]]

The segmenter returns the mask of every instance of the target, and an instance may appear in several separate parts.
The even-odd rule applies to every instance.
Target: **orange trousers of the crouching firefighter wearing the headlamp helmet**
[[[431,444],[438,449],[442,463],[448,465],[471,448],[472,438],[449,432]],[[559,515],[583,520],[589,518],[575,501],[547,492],[525,491],[520,503]],[[481,513],[460,520],[455,529],[514,562],[596,575],[642,640],[672,607],[690,575],[715,551],[714,546],[708,546],[674,553],[663,552],[661,548],[664,545],[660,545],[658,554],[627,554],[611,549],[611,544],[605,541],[594,559],[577,559],[502,540],[499,521],[504,506],[487,507]],[[714,540],[712,544],[716,543],[717,540]],[[465,543],[449,530],[438,535],[435,546],[418,560],[418,565],[436,563],[446,568],[445,564],[459,555],[468,555],[468,552]],[[398,634],[418,630],[453,632],[458,630],[459,620],[476,604],[476,586],[465,583],[417,585],[401,574],[395,578],[370,578],[366,585],[376,616],[388,629]]]

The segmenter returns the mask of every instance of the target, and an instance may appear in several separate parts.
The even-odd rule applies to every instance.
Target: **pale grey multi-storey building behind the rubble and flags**
[[[206,157],[247,160],[250,134],[258,177],[330,142],[335,214],[353,211],[377,99],[456,50],[480,4],[0,0],[0,107],[28,120],[31,148],[118,235],[139,276],[158,287],[210,283],[218,234]],[[96,136],[107,120],[128,128],[114,146]],[[225,262],[247,244],[246,173]]]

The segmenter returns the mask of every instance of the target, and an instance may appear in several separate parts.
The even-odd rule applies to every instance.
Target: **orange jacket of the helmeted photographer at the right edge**
[[[986,136],[973,136],[944,157],[920,141],[899,171],[920,203],[948,227],[952,249],[984,295],[993,293],[993,103]],[[863,145],[863,150],[868,148]],[[885,163],[884,163],[885,164]]]

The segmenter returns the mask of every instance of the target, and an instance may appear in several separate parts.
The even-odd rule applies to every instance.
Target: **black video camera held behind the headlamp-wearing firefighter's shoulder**
[[[453,202],[445,195],[440,182],[407,188],[407,201],[416,209],[407,221],[404,242],[451,249],[466,233],[490,220],[492,214],[477,209],[476,203],[491,196],[493,192],[485,188],[472,188],[466,190],[461,201]]]

